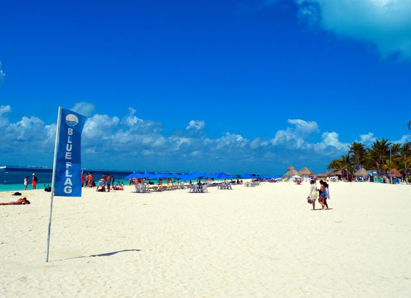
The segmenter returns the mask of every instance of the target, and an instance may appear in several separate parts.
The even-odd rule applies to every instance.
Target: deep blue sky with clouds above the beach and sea
[[[0,17],[0,164],[52,163],[57,106],[83,166],[319,172],[411,141],[407,0],[22,2]]]

